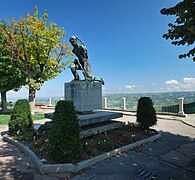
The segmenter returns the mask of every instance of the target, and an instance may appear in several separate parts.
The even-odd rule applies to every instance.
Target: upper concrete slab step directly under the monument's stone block
[[[45,118],[52,119],[53,113],[45,113]],[[110,119],[116,119],[122,117],[123,114],[119,112],[109,111],[94,111],[91,114],[78,115],[80,126],[87,126],[90,124],[109,121]]]

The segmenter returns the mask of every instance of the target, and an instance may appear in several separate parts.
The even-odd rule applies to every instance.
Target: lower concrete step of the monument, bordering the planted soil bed
[[[123,126],[122,122],[112,121],[112,120],[91,124],[88,126],[83,126],[81,128],[80,137],[85,138],[85,137],[93,136],[99,133],[117,129],[121,126]]]

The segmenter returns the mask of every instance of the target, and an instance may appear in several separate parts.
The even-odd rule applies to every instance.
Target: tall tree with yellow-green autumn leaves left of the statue
[[[18,21],[11,18],[11,24],[2,21],[3,30],[12,47],[12,58],[16,67],[23,74],[25,84],[29,88],[31,108],[35,103],[36,90],[62,71],[66,63],[61,62],[63,56],[71,55],[69,45],[62,41],[65,35],[63,28],[50,22],[47,27],[48,14],[44,11],[38,18],[38,8],[34,14],[26,14],[26,18]]]

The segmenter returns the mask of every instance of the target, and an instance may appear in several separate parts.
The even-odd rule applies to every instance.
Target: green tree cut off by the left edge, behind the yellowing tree
[[[0,92],[2,111],[7,111],[6,92],[18,90],[23,84],[20,69],[12,62],[11,48],[0,29]]]

